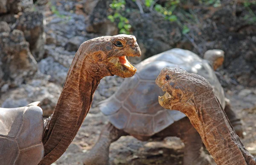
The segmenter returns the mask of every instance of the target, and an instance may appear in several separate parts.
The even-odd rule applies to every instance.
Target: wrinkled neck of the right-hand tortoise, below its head
[[[204,145],[218,165],[256,165],[256,159],[244,148],[213,91],[194,97],[183,113],[200,134]],[[209,99],[210,98],[210,99]]]

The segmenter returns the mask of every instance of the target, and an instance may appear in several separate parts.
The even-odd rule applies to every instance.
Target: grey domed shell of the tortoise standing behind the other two
[[[189,50],[171,49],[145,59],[136,67],[133,77],[125,78],[113,96],[99,103],[102,113],[116,128],[135,137],[152,136],[185,117],[177,110],[163,109],[158,103],[158,96],[164,92],[155,84],[155,79],[164,67],[179,67],[204,76],[225,107],[224,90],[212,67]]]

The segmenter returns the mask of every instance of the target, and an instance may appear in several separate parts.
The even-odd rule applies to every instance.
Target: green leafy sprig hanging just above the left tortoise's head
[[[119,23],[117,24],[118,29],[120,29],[119,33],[128,35],[130,34],[131,25],[129,24],[129,20],[122,16],[125,11],[125,4],[125,0],[113,0],[110,7],[115,10],[115,13],[113,15],[109,15],[108,19],[111,22],[114,22],[116,19],[119,20]]]

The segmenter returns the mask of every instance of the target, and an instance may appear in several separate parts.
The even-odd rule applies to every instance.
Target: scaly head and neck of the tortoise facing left
[[[218,165],[256,165],[227,119],[209,82],[175,67],[164,68],[156,84],[166,91],[159,103],[186,114]]]

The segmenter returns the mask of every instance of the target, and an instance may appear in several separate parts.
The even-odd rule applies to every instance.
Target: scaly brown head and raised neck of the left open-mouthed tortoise
[[[54,113],[45,123],[44,158],[39,165],[52,164],[66,151],[83,123],[103,77],[118,75],[125,78],[135,74],[136,69],[130,63],[121,64],[117,58],[140,54],[132,35],[103,36],[81,44]]]

